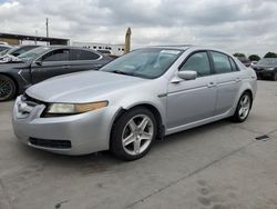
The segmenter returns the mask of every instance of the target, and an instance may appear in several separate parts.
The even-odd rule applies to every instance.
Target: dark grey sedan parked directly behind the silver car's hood
[[[0,101],[40,81],[59,74],[98,70],[112,59],[90,49],[74,47],[39,47],[0,64]]]

